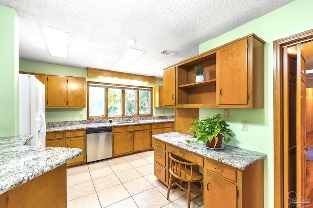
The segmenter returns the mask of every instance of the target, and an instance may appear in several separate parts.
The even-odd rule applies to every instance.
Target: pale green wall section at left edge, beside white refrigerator
[[[0,5],[0,137],[19,130],[18,21],[14,9]]]

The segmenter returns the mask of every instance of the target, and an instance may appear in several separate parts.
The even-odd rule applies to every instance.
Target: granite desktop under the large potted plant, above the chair
[[[224,149],[221,150],[207,149],[203,146],[203,142],[199,142],[198,144],[188,144],[186,140],[194,139],[193,136],[178,132],[156,134],[152,135],[152,137],[241,170],[245,170],[247,167],[267,157],[266,154],[261,152],[251,151],[226,144],[223,144]]]

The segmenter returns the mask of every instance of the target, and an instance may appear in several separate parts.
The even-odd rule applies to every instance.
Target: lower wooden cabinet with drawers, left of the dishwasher
[[[79,148],[83,153],[68,161],[67,166],[84,164],[86,162],[86,130],[47,132],[45,146]]]

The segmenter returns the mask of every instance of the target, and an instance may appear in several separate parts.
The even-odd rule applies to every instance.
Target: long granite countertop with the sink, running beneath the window
[[[150,123],[164,123],[164,122],[174,122],[174,118],[172,116],[168,116],[168,118],[164,119],[132,119],[124,122],[124,119],[116,119],[113,120],[112,123],[104,121],[99,123],[96,121],[94,123],[86,123],[86,121],[82,122],[54,122],[53,124],[47,125],[47,132],[56,132],[56,131],[66,131],[66,130],[76,130],[76,129],[90,129],[90,128],[98,128],[98,127],[109,127],[109,126],[127,126],[127,125],[139,125],[139,124],[150,124]],[[157,117],[155,117],[157,118]],[[91,122],[92,120],[89,120]]]

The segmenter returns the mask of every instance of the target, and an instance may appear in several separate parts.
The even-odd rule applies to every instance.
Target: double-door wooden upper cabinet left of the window
[[[84,108],[86,106],[86,78],[31,74],[34,74],[45,85],[46,108]]]

